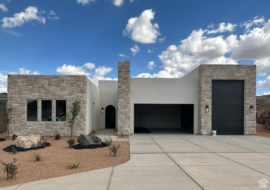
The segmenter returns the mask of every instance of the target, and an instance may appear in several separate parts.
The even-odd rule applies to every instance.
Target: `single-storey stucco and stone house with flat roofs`
[[[193,128],[194,134],[256,134],[256,65],[202,64],[182,78],[130,78],[130,62],[118,61],[118,81],[96,87],[81,75],[8,75],[14,108],[10,136],[69,136],[66,114],[81,101],[73,134],[134,127]]]

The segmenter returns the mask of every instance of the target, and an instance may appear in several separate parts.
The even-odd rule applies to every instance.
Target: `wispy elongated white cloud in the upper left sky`
[[[35,6],[29,6],[25,9],[25,12],[16,13],[14,17],[4,17],[2,19],[2,27],[4,28],[13,28],[16,26],[21,26],[25,22],[32,20],[37,20],[45,24],[46,19],[41,15],[38,15],[38,9]]]

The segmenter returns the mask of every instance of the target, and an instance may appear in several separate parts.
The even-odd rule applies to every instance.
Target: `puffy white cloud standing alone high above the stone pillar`
[[[149,9],[143,11],[138,18],[130,18],[123,31],[123,35],[142,44],[156,43],[157,37],[161,34],[158,31],[158,24],[151,23],[154,19],[154,14],[155,12]]]

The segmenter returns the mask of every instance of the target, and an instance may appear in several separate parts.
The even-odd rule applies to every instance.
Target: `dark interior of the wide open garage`
[[[194,104],[134,104],[134,133],[147,128],[193,134],[193,119]]]

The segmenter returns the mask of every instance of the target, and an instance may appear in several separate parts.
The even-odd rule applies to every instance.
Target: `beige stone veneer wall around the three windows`
[[[38,100],[38,122],[26,122],[26,99]],[[41,100],[52,100],[52,121],[41,122]],[[86,133],[87,77],[83,75],[8,75],[8,104],[13,107],[9,134],[70,136],[67,122],[55,121],[55,100],[81,101],[81,112],[73,126],[73,136]]]

